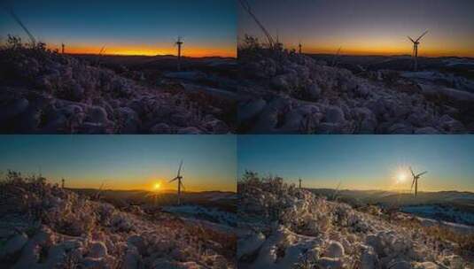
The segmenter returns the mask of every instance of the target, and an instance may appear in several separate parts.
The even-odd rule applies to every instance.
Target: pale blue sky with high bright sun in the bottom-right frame
[[[397,182],[411,165],[422,191],[474,191],[472,135],[239,135],[239,177],[245,170],[279,175],[307,188],[408,191]],[[409,172],[408,172],[409,173]]]

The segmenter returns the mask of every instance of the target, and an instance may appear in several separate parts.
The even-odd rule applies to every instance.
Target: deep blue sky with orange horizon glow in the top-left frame
[[[4,2],[4,1],[3,1]],[[108,54],[176,54],[235,57],[237,3],[221,0],[23,0],[10,6],[35,38],[51,48],[66,43],[66,52]],[[0,36],[27,35],[0,10]]]

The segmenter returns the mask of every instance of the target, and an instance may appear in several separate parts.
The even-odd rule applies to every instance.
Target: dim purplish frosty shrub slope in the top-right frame
[[[390,70],[355,75],[284,50],[242,50],[239,55],[245,81],[238,123],[245,133],[474,132],[474,93],[457,89],[474,84],[461,77]],[[447,85],[433,82],[441,76]]]

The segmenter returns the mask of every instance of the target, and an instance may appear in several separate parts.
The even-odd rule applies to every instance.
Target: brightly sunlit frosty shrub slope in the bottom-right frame
[[[472,268],[409,215],[356,211],[281,178],[239,182],[239,268]]]

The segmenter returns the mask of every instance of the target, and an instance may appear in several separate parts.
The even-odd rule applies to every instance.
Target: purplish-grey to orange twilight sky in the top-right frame
[[[343,54],[410,54],[407,35],[430,30],[421,56],[474,57],[472,0],[248,0],[253,13],[287,48]],[[239,6],[238,35],[260,36]],[[262,41],[264,39],[261,39]]]

